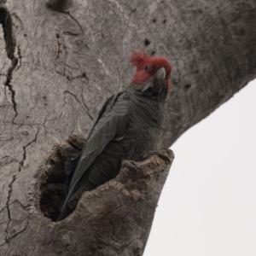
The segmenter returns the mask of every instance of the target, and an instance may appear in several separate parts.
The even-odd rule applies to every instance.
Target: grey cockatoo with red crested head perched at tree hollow
[[[67,218],[85,191],[116,177],[122,166],[136,169],[135,161],[156,154],[172,66],[166,57],[143,50],[133,51],[130,61],[137,68],[131,84],[108,98],[81,154],[64,165],[66,199],[56,221]]]

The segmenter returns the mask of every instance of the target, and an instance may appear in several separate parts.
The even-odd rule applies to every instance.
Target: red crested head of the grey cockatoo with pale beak
[[[131,65],[137,67],[131,84],[145,84],[144,90],[150,88],[154,93],[159,93],[163,89],[166,92],[171,90],[172,67],[165,57],[151,57],[144,51],[134,51],[131,55]]]

